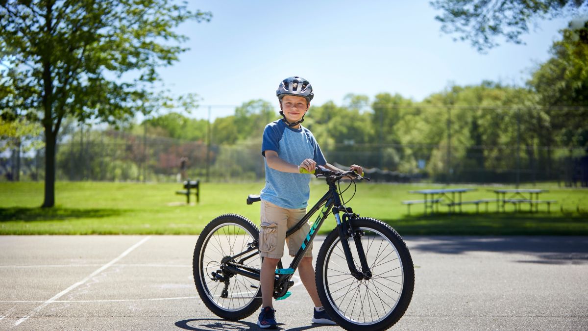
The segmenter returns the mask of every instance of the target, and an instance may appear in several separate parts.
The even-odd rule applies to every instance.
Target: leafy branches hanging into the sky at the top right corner
[[[435,17],[441,30],[457,34],[454,40],[469,41],[479,52],[496,47],[497,37],[524,44],[521,35],[537,19],[574,17],[586,12],[585,0],[433,0],[433,8],[442,14]]]

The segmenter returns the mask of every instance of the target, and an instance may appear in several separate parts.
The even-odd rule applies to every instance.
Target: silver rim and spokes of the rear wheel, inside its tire
[[[199,259],[200,282],[206,296],[223,310],[236,311],[248,306],[256,297],[259,281],[235,274],[230,277],[228,297],[221,297],[225,283],[215,282],[211,273],[220,269],[220,260],[247,249],[247,244],[256,240],[252,234],[237,223],[223,223],[209,232],[202,245]],[[260,268],[259,254],[245,262],[250,267]],[[255,286],[253,288],[252,286]]]

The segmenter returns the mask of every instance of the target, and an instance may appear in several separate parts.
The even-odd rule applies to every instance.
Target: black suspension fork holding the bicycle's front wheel
[[[343,253],[345,253],[349,272],[357,280],[368,280],[372,278],[372,271],[369,269],[368,260],[366,259],[366,254],[363,250],[363,231],[352,229],[348,219],[355,219],[357,214],[353,214],[350,209],[351,208],[345,207],[340,207],[338,209],[333,208],[333,214],[335,215],[335,221],[337,222],[337,230],[339,231],[339,239],[341,240],[341,246],[343,246]],[[345,211],[343,214],[343,221],[341,221],[339,217],[339,210]],[[355,248],[358,252],[358,259],[362,266],[361,271],[358,270],[353,262],[353,254],[351,253],[351,247],[349,247],[348,241],[349,237],[353,237],[353,242],[355,243]]]

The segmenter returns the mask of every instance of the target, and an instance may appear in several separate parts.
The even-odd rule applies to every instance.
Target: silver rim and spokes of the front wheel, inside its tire
[[[373,325],[386,319],[396,308],[404,288],[404,269],[396,246],[377,230],[360,227],[363,250],[372,272],[369,280],[357,280],[349,273],[341,241],[329,246],[323,264],[325,293],[336,313],[358,325]],[[348,240],[353,260],[362,270],[355,241]]]

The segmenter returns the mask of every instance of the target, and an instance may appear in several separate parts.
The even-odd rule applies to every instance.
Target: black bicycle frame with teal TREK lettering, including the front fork
[[[288,282],[288,280],[290,279],[290,277],[292,277],[292,274],[295,272],[295,270],[298,268],[300,262],[302,262],[302,257],[304,256],[304,254],[306,253],[306,251],[309,249],[309,245],[308,243],[312,242],[315,239],[316,233],[318,233],[318,230],[320,229],[320,226],[322,226],[322,224],[324,223],[324,221],[326,220],[327,216],[329,215],[329,212],[332,210],[333,216],[335,216],[335,221],[337,223],[337,229],[339,231],[339,237],[341,240],[341,244],[343,247],[343,252],[345,253],[345,257],[348,263],[348,267],[349,267],[349,271],[352,274],[352,276],[354,276],[356,279],[358,280],[362,280],[362,279],[370,279],[372,277],[372,273],[370,272],[369,266],[366,263],[366,257],[365,257],[365,253],[363,251],[363,247],[362,247],[362,243],[361,243],[361,239],[360,236],[362,234],[357,233],[356,231],[354,231],[353,229],[350,229],[349,226],[349,222],[347,221],[348,218],[354,218],[356,217],[355,214],[353,213],[349,213],[348,208],[344,207],[340,201],[339,198],[339,193],[336,187],[336,179],[335,178],[326,178],[327,183],[329,184],[329,190],[327,193],[325,193],[325,195],[319,199],[319,201],[312,207],[310,208],[310,210],[308,211],[308,213],[305,214],[304,217],[302,217],[302,219],[296,223],[296,225],[294,227],[292,227],[292,229],[289,229],[286,232],[286,237],[290,236],[292,233],[295,233],[296,231],[298,231],[304,223],[307,223],[310,220],[310,217],[312,217],[315,213],[317,213],[319,211],[319,215],[318,217],[316,217],[316,220],[313,222],[312,226],[310,226],[310,230],[309,233],[306,235],[305,240],[303,240],[302,245],[300,246],[300,248],[298,249],[298,251],[296,252],[296,254],[294,255],[292,262],[290,263],[288,269],[277,269],[276,270],[276,276],[278,276],[278,278],[276,279],[275,282],[275,288],[280,287],[281,284],[284,284],[285,282]],[[322,208],[321,208],[322,207]],[[341,211],[344,211],[345,213],[343,214],[343,220],[341,219],[339,213]],[[358,251],[358,257],[362,266],[362,270],[359,271],[357,269],[357,267],[355,266],[355,263],[353,263],[353,256],[351,253],[351,249],[349,247],[349,243],[348,243],[348,238],[349,237],[353,237],[355,244],[356,244],[356,249]],[[249,259],[250,257],[255,256],[255,254],[257,253],[258,250],[258,241],[255,240],[252,243],[250,243],[249,248],[245,251],[243,251],[242,253],[236,254],[235,256],[230,256],[230,257],[226,257],[225,259],[222,260],[222,263],[225,264],[226,269],[231,272],[231,273],[235,273],[235,274],[241,274],[243,276],[255,279],[255,280],[260,280],[260,270],[259,269],[255,269],[252,267],[246,267],[243,265],[243,262],[247,259]],[[239,266],[237,266],[234,262],[237,259],[239,259],[239,262],[237,264],[240,264]],[[287,283],[286,283],[287,284]],[[288,286],[286,286],[286,289],[288,289]],[[283,292],[285,293],[285,290],[283,290]]]

